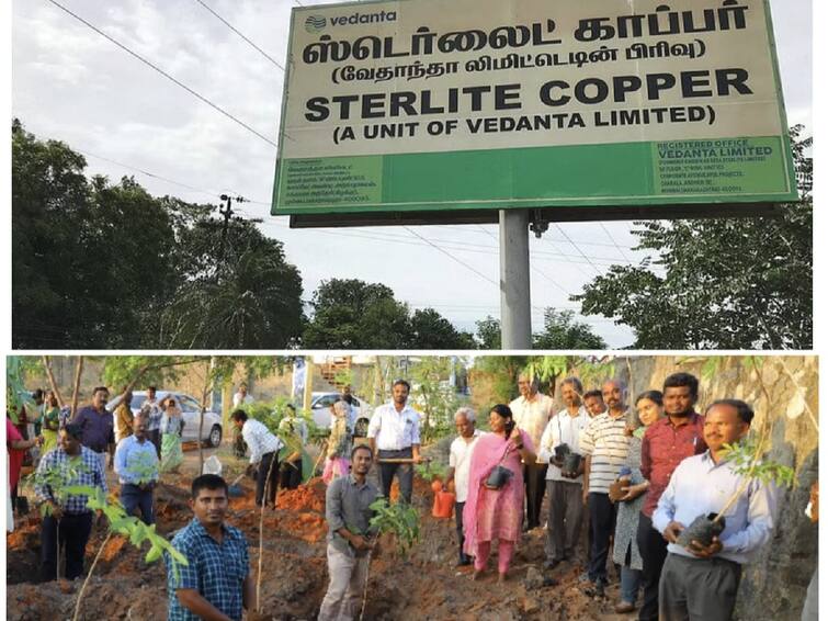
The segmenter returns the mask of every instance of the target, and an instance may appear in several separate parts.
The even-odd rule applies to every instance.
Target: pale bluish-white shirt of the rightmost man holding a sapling
[[[718,513],[742,482],[744,475],[736,474],[729,461],[716,464],[710,451],[687,458],[676,467],[658,500],[653,527],[663,532],[671,521],[687,527],[699,516]],[[724,515],[725,530],[718,535],[722,552],[717,556],[739,564],[751,561],[771,537],[778,492],[773,484],[759,479],[748,484]],[[669,544],[667,550],[695,558],[676,543]]]

